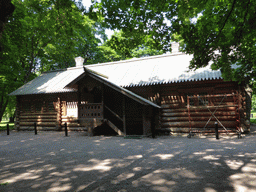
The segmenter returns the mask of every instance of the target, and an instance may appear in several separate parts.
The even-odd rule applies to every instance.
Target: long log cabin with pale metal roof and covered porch
[[[191,55],[170,54],[42,73],[16,96],[16,129],[84,130],[118,135],[248,132],[250,93],[210,67],[189,71]],[[107,128],[106,128],[107,129]]]

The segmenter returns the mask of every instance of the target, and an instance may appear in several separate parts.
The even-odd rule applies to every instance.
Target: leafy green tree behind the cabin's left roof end
[[[97,41],[93,34],[98,33],[72,0],[13,0],[12,3],[15,11],[0,39],[0,121],[5,109],[11,106],[8,106],[10,92],[35,78],[37,73],[74,65],[74,57],[81,54],[80,41],[88,34],[91,34],[89,39]]]

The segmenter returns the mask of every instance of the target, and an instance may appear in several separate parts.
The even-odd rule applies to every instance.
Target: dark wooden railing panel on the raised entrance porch
[[[103,118],[102,103],[81,104],[79,118]]]

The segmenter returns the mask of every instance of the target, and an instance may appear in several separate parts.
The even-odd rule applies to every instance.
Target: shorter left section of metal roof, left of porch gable
[[[83,73],[83,67],[42,73],[39,77],[23,85],[10,95],[74,92],[76,91],[75,89],[64,87]]]

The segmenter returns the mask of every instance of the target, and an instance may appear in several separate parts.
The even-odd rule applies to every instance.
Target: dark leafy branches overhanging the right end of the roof
[[[111,29],[126,35],[151,35],[167,52],[171,41],[193,54],[191,69],[209,65],[228,80],[253,82],[256,76],[256,1],[245,0],[101,0],[91,15],[105,17]],[[236,64],[236,66],[234,66]]]

